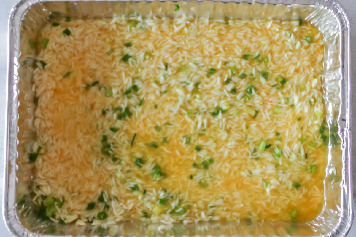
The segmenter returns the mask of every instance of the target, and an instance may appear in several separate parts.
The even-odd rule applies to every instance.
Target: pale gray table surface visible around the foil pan
[[[5,98],[6,98],[6,53],[7,53],[7,22],[11,8],[16,4],[17,0],[1,0],[0,7],[0,171],[1,171],[1,184],[0,184],[0,201],[2,202],[2,167],[4,157],[4,129],[5,129]],[[345,7],[351,23],[351,80],[356,76],[356,67],[353,63],[356,62],[356,0],[339,0],[342,6]],[[356,91],[356,84],[352,83],[352,91]],[[356,96],[351,95],[351,109],[355,111]],[[356,116],[356,115],[355,115]],[[356,119],[352,119],[352,127],[356,125]],[[356,130],[352,131],[352,160],[354,163],[354,199],[356,200]],[[354,202],[354,209],[356,210],[356,202]],[[0,212],[2,213],[2,206],[0,206]],[[12,237],[12,235],[6,230],[6,226],[2,218],[0,218],[0,236]],[[356,236],[356,218],[351,227],[351,231],[347,237]]]

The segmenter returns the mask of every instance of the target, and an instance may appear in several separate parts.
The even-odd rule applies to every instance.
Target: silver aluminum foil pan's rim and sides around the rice
[[[238,4],[237,4],[238,3]],[[350,138],[350,25],[345,10],[333,0],[235,0],[183,1],[183,11],[172,12],[172,1],[52,1],[22,0],[11,11],[4,159],[4,213],[9,231],[15,236],[346,236],[352,223],[351,138]],[[172,8],[173,7],[173,8]],[[35,102],[32,90],[36,52],[28,39],[35,39],[41,27],[56,17],[112,17],[136,11],[176,17],[183,12],[196,17],[310,21],[324,36],[323,88],[329,129],[339,137],[339,146],[329,145],[325,170],[322,212],[315,220],[292,223],[203,222],[176,224],[161,230],[156,225],[121,222],[93,227],[59,225],[37,218],[36,207],[27,204],[32,187],[32,165],[27,146],[36,138],[33,126]],[[21,163],[22,162],[22,163]],[[294,229],[292,227],[294,226]]]

